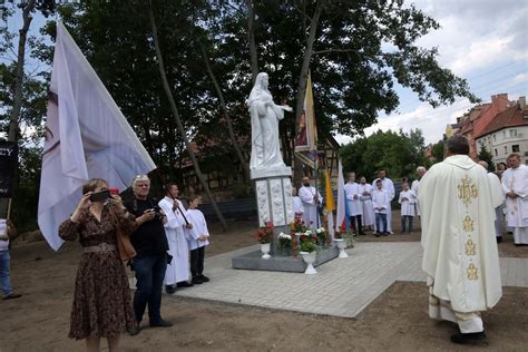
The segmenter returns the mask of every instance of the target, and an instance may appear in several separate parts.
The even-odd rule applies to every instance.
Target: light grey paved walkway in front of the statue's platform
[[[319,267],[316,275],[234,270],[231,258],[256,251],[258,245],[205,261],[211,282],[176,295],[353,317],[394,281],[426,281],[418,242],[358,243],[348,258]],[[502,284],[528,287],[528,258],[500,258]]]

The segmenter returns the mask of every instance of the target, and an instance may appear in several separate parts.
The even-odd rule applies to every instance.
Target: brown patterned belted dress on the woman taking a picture
[[[119,222],[125,232],[134,231],[134,215],[120,217]],[[116,226],[106,206],[100,222],[85,209],[76,223],[70,219],[63,222],[59,235],[66,241],[79,238],[82,247],[100,243],[117,247]],[[128,278],[117,250],[82,253],[75,283],[69,338],[111,338],[134,329],[136,324]]]

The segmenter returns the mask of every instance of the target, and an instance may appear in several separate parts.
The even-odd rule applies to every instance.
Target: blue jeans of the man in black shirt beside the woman
[[[141,321],[148,304],[148,319],[150,324],[156,324],[162,320],[162,290],[167,268],[167,255],[163,253],[135,257],[133,268],[137,280],[134,295],[136,320]]]

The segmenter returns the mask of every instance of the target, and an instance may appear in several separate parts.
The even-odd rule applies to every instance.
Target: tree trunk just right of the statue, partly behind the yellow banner
[[[306,80],[307,80],[307,72],[310,69],[310,61],[313,55],[313,43],[315,41],[315,33],[317,31],[319,19],[321,17],[321,12],[323,11],[323,6],[321,1],[317,2],[315,7],[314,14],[310,21],[310,35],[306,39],[306,50],[304,51],[303,56],[303,65],[301,67],[301,72],[299,75],[299,85],[297,85],[297,96],[296,96],[296,105],[295,105],[295,127],[299,126],[301,120],[301,115],[303,114],[303,106],[304,106],[304,95],[306,92]],[[303,19],[304,20],[304,19]],[[293,168],[293,182],[294,185],[300,185],[303,178],[303,162],[301,159],[294,157],[294,168]]]

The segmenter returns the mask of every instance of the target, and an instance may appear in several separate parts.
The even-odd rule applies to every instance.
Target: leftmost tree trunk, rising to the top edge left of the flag
[[[31,25],[31,11],[35,9],[35,1],[30,0],[22,10],[23,25],[20,29],[20,39],[18,41],[17,76],[14,78],[14,101],[9,124],[8,140],[18,141],[18,120],[22,109],[22,89],[23,89],[23,63],[26,57],[26,41],[28,38],[29,25]]]

